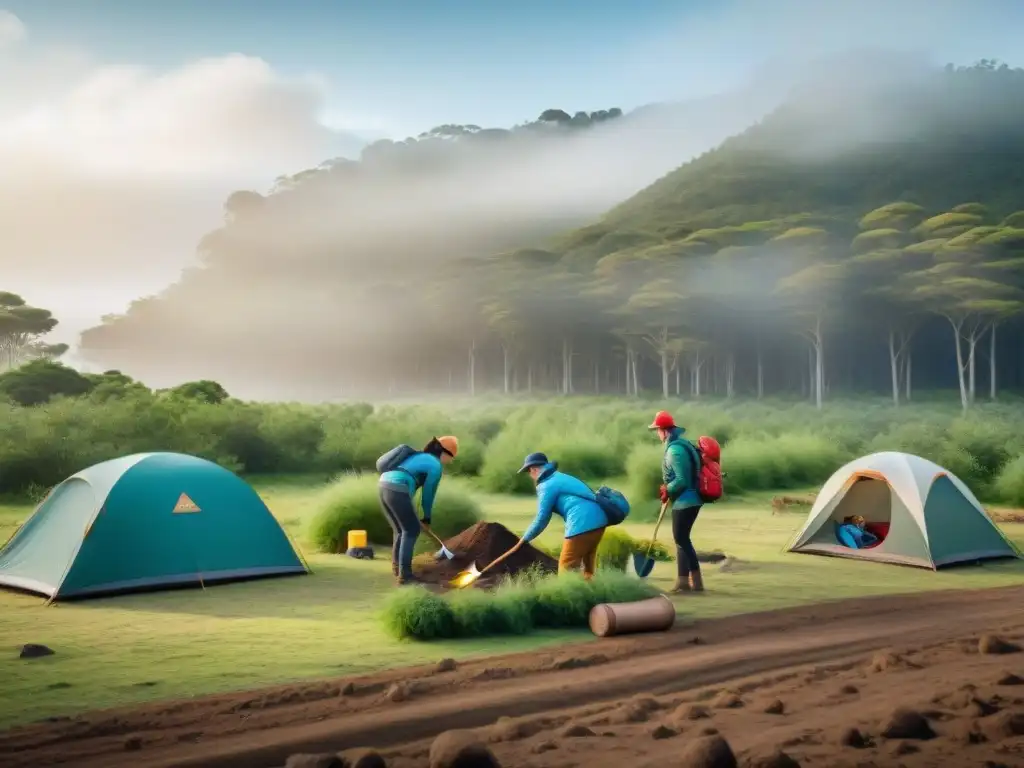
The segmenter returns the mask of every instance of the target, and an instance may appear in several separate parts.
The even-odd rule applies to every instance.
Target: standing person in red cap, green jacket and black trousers
[[[686,430],[676,424],[668,411],[658,411],[648,428],[656,430],[658,439],[665,443],[659,496],[663,504],[672,505],[672,538],[676,542],[676,583],[672,592],[703,592],[700,563],[690,539],[703,503],[697,493],[700,456],[683,437]]]

